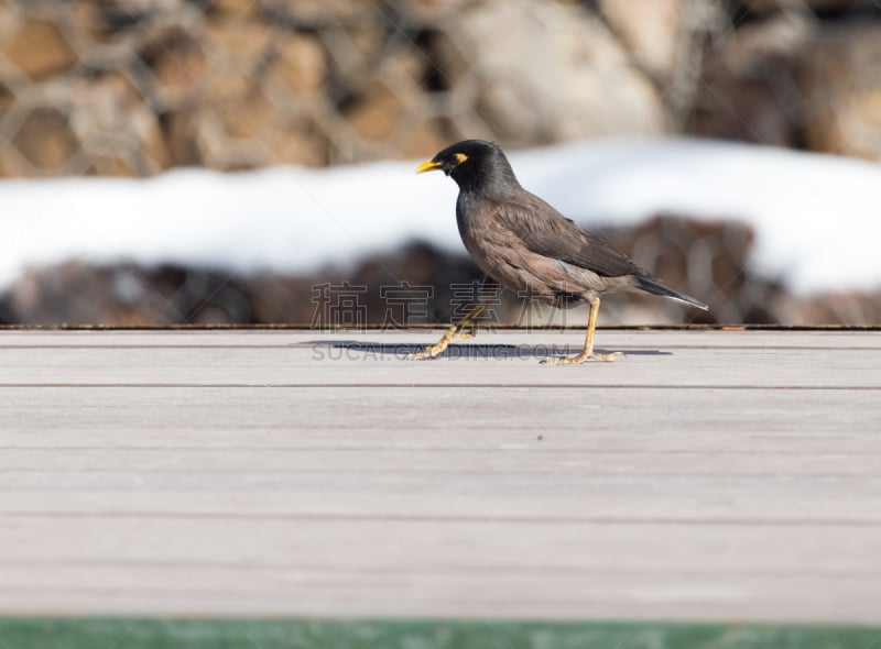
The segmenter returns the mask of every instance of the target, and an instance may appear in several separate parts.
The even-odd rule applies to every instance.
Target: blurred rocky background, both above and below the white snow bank
[[[509,148],[696,135],[881,161],[877,0],[2,0],[0,176],[150,176],[418,158],[463,138]],[[870,324],[878,295],[795,298],[744,263],[716,215],[607,231],[709,314],[611,300],[616,321]],[[2,218],[2,216],[0,216]],[[315,323],[316,286],[435,286],[450,318],[464,255],[413,242],[355,271],[34,268],[0,322]],[[360,302],[359,302],[360,304]],[[653,309],[650,315],[641,309]],[[523,305],[499,312],[520,322]]]

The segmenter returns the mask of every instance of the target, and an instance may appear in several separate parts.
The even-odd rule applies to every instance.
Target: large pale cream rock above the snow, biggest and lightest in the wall
[[[480,88],[475,109],[503,142],[664,132],[659,94],[584,9],[489,1],[457,21],[449,34]]]

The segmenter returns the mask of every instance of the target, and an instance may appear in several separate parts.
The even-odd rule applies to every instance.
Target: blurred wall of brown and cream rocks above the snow
[[[0,175],[324,165],[683,123],[877,160],[880,15],[871,0],[8,0]]]

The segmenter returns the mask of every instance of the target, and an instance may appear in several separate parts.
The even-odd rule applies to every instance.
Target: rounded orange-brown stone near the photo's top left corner
[[[0,47],[12,64],[32,79],[64,72],[77,62],[76,52],[61,30],[45,20],[29,20],[6,46]]]

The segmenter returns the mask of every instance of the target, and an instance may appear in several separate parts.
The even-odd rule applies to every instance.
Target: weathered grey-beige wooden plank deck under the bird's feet
[[[881,332],[435,338],[0,332],[0,614],[881,625]]]

